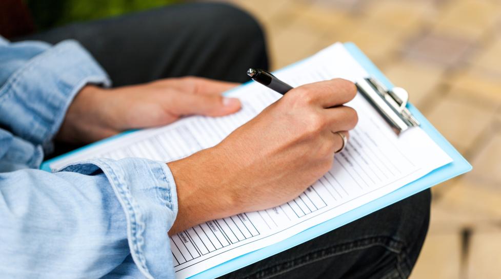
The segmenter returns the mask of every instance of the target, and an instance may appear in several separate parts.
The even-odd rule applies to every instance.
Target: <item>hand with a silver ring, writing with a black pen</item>
[[[178,215],[170,234],[236,213],[288,202],[322,177],[357,123],[347,80],[306,84],[288,92],[221,143],[168,163]]]

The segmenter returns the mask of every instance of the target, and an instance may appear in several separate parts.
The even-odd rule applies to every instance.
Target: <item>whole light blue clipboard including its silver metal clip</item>
[[[452,158],[453,161],[431,171],[431,173],[416,181],[398,188],[386,196],[373,200],[329,221],[306,229],[284,241],[238,256],[228,262],[207,269],[189,277],[190,279],[215,278],[266,259],[266,257],[302,244],[318,237],[321,234],[362,218],[374,211],[403,200],[438,183],[464,174],[472,169],[472,166],[468,163],[468,161],[466,161],[466,159],[463,158],[463,156],[460,155],[459,152],[457,152],[456,149],[442,135],[440,135],[433,125],[412,104],[407,102],[407,98],[405,97],[402,89],[394,88],[384,74],[377,69],[372,61],[362,51],[360,51],[355,44],[347,42],[344,46],[351,56],[357,60],[360,66],[362,66],[370,74],[369,78],[357,81],[359,92],[364,95],[364,97],[393,127],[395,133],[403,133],[407,130],[407,128],[419,125],[430,136],[430,138],[438,144],[440,148],[442,148],[444,152],[449,155],[449,157]],[[298,63],[302,63],[302,61],[298,61],[293,65],[297,65]],[[81,152],[83,149],[114,140],[132,132],[134,131],[124,132],[108,139],[78,148],[75,151],[62,156],[47,160],[41,165],[41,169],[50,171],[50,164],[55,160],[70,156],[74,153]]]

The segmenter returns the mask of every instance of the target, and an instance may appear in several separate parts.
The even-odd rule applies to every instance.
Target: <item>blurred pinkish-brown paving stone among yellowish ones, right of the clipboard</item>
[[[439,67],[454,67],[469,57],[473,47],[473,40],[448,34],[424,33],[409,40],[403,55]]]

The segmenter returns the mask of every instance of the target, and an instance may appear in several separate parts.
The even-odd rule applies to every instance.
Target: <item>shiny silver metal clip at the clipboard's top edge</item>
[[[357,80],[355,83],[364,97],[376,111],[385,118],[397,135],[410,127],[419,126],[419,121],[406,108],[409,93],[403,88],[394,87],[391,90],[373,77]]]

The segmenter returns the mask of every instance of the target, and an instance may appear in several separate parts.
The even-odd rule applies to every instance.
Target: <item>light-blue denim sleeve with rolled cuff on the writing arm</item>
[[[95,159],[53,174],[0,173],[0,274],[174,278],[167,232],[176,214],[163,162]]]

